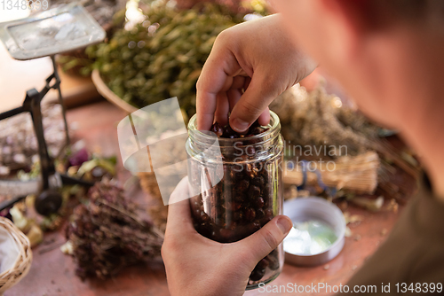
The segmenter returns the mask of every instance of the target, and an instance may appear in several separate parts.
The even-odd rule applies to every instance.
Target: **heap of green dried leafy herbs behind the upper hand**
[[[107,43],[86,53],[109,89],[126,102],[142,107],[178,97],[190,116],[195,113],[195,83],[216,36],[243,16],[217,4],[197,4],[186,11],[149,6],[145,16],[139,25],[117,30]]]

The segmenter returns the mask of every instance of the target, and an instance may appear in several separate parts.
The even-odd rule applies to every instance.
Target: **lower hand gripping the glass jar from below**
[[[182,179],[170,200],[188,196]],[[238,242],[221,244],[194,230],[188,199],[170,204],[162,257],[171,296],[243,295],[251,271],[289,233],[292,222],[276,216]]]

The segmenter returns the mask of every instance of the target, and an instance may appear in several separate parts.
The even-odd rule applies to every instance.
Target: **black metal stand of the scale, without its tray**
[[[57,212],[57,210],[59,210],[59,207],[61,206],[61,201],[62,201],[59,192],[52,191],[50,189],[50,181],[49,181],[50,176],[56,174],[56,171],[54,167],[54,161],[52,160],[52,158],[48,153],[48,147],[46,145],[46,141],[44,140],[44,125],[42,121],[43,118],[42,118],[41,103],[42,99],[48,93],[49,90],[57,90],[59,93],[59,104],[61,105],[63,113],[63,121],[65,124],[65,131],[66,131],[66,141],[67,144],[70,143],[68,129],[67,129],[66,111],[65,111],[65,106],[63,104],[63,97],[61,96],[61,91],[60,91],[60,78],[57,72],[55,59],[53,56],[51,58],[52,58],[52,66],[54,72],[48,78],[46,78],[46,84],[44,86],[44,89],[41,91],[37,91],[36,89],[28,90],[25,100],[23,101],[23,105],[21,105],[18,108],[6,111],[4,113],[0,113],[0,121],[25,112],[28,112],[31,115],[34,130],[36,132],[38,155],[40,158],[40,167],[41,167],[41,175],[43,182],[42,183],[43,191],[36,199],[36,211],[39,214],[44,214],[44,215]],[[54,82],[52,83],[52,81]],[[61,183],[81,184],[83,186],[93,185],[93,183],[89,183],[80,179],[75,179],[68,175],[60,174],[59,176]],[[16,199],[13,199],[12,201],[10,200],[4,202],[3,204],[0,205],[0,211],[8,206],[12,206],[15,202],[23,198],[24,197],[18,197]]]

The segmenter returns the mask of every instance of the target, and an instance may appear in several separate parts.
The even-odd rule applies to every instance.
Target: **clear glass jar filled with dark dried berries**
[[[242,138],[217,138],[188,123],[188,178],[194,228],[202,236],[231,243],[260,230],[282,208],[283,139],[278,116],[265,131]],[[264,130],[264,129],[262,129]],[[278,277],[282,244],[258,262],[247,290]]]

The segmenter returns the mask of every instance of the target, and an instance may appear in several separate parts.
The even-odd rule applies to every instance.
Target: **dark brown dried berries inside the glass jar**
[[[222,127],[218,122],[210,129],[218,137],[242,140],[266,130],[268,128],[261,127],[258,121],[251,125],[245,135],[236,133],[229,125]],[[236,149],[234,152],[237,152]],[[190,203],[194,227],[203,236],[220,243],[231,243],[250,236],[273,219],[273,171],[265,169],[264,161],[252,160],[256,152],[258,150],[253,145],[243,145],[242,155],[238,158],[241,162],[236,165],[224,164],[223,179],[209,191],[192,198],[198,200]],[[235,159],[231,155],[223,156],[227,160]],[[266,270],[274,271],[279,267],[278,252],[274,250],[258,262],[250,274],[250,283],[265,277]]]

